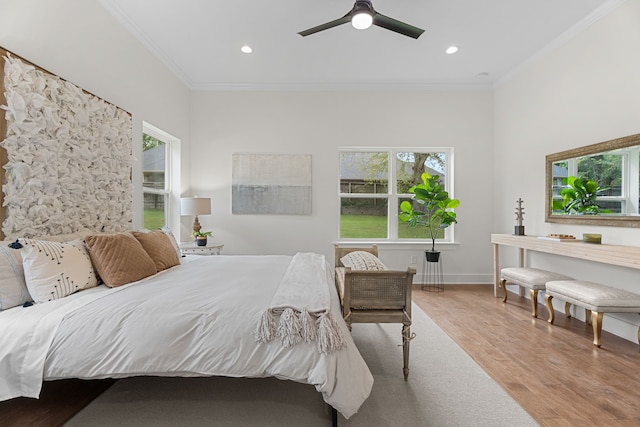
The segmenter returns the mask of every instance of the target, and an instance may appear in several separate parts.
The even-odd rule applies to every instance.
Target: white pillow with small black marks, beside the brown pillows
[[[71,295],[98,284],[82,240],[50,242],[21,240],[27,289],[37,303]]]

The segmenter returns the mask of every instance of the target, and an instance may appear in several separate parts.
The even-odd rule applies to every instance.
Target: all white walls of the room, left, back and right
[[[190,93],[96,1],[0,0],[0,12],[0,46],[133,114],[136,158],[143,120],[182,141],[180,192],[212,197],[213,214],[201,222],[226,253],[306,250],[331,259],[338,240],[337,148],[345,145],[454,147],[454,194],[462,205],[457,244],[441,247],[448,283],[492,281],[489,234],[512,232],[518,197],[525,200],[528,234],[593,231],[605,243],[629,245],[640,238],[636,229],[546,224],[543,212],[546,154],[640,132],[637,1],[625,2],[494,94]],[[232,215],[236,152],[311,154],[313,214]],[[141,212],[139,162],[133,179],[134,208]],[[139,215],[135,221],[140,226]],[[182,221],[183,239],[189,223]],[[389,245],[381,253],[389,266],[405,268],[422,249]],[[529,258],[533,265],[640,291],[635,270]],[[515,251],[505,253],[504,262],[515,262]],[[605,316],[605,330],[634,339],[630,324],[638,320],[618,318]]]

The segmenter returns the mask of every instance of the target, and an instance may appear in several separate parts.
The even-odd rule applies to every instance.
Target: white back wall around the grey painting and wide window
[[[200,222],[225,244],[225,253],[315,251],[333,260],[338,147],[452,146],[454,195],[461,206],[456,210],[459,244],[442,248],[445,281],[491,282],[491,93],[197,92],[191,119],[191,191],[213,199],[212,215]],[[231,214],[231,155],[251,152],[312,155],[312,215]],[[424,249],[380,247],[383,260],[402,269]]]

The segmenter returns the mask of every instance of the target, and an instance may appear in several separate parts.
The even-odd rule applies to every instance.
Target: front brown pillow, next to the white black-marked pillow
[[[157,273],[156,265],[131,233],[94,234],[85,238],[91,261],[109,287]]]

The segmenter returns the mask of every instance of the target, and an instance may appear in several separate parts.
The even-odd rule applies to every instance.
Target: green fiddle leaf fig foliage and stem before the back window
[[[458,222],[452,209],[460,206],[460,200],[449,198],[438,175],[425,172],[421,179],[421,183],[409,189],[414,194],[413,200],[400,203],[399,218],[409,227],[426,227],[431,237],[431,252],[435,252],[438,232]]]

